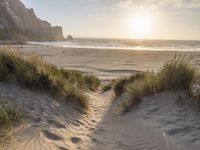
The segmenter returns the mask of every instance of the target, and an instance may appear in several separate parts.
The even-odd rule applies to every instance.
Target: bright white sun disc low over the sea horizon
[[[148,14],[135,14],[131,20],[131,31],[135,38],[148,38],[153,30],[153,18]]]

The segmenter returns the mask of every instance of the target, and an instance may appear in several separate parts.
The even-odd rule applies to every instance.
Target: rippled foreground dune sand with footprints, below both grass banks
[[[91,109],[87,114],[47,93],[16,85],[1,84],[0,93],[1,103],[15,103],[26,116],[23,124],[14,129],[12,140],[5,147],[7,150],[197,150],[200,146],[198,130],[187,136],[179,124],[173,124],[182,117],[175,115],[174,120],[168,121],[169,115],[179,111],[171,107],[180,93],[147,97],[126,115],[121,114],[121,99],[113,101],[112,91],[89,93]],[[166,98],[170,100],[168,106],[163,103]],[[171,111],[167,115],[168,109]],[[182,123],[192,128],[199,123],[194,119],[194,123],[186,121],[187,118]]]

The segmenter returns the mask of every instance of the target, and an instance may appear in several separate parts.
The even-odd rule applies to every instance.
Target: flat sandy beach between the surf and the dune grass
[[[136,71],[157,72],[164,62],[175,54],[194,57],[199,63],[200,52],[139,51],[87,48],[61,48],[53,46],[25,45],[19,50],[43,56],[47,62],[59,68],[75,69],[97,75],[101,80],[111,80],[130,75]]]

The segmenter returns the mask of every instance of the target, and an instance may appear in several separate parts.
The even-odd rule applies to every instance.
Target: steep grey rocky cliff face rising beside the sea
[[[20,0],[0,0],[0,39],[62,40],[63,31],[27,9]]]

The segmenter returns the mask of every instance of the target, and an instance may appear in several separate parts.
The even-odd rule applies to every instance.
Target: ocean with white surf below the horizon
[[[58,42],[28,42],[69,48],[151,50],[151,51],[200,51],[200,41],[181,40],[131,40],[131,39],[91,39],[76,38]]]

